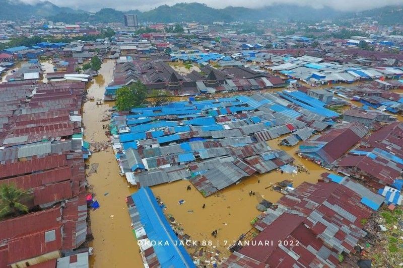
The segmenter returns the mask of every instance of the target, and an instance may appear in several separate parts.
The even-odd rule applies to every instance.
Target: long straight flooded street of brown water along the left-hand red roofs
[[[102,99],[105,85],[112,79],[114,63],[105,61],[99,75],[93,79],[88,88],[88,97]],[[96,105],[96,101],[84,104],[83,123],[85,139],[90,142],[105,142],[105,129],[108,122],[101,120],[109,113],[109,105]],[[136,238],[132,234],[130,218],[125,197],[133,189],[118,174],[118,166],[112,148],[94,153],[88,163],[99,163],[97,173],[88,177],[88,183],[96,193],[95,199],[100,208],[91,211],[91,229],[94,240],[94,255],[90,257],[90,267],[142,267],[141,256]],[[113,215],[113,217],[111,217]]]

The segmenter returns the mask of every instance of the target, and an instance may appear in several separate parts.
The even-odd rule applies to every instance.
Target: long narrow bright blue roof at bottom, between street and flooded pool
[[[195,267],[185,248],[180,245],[178,237],[158,206],[155,196],[150,188],[141,188],[131,195],[139,212],[142,223],[150,241],[163,241],[153,246],[158,261],[164,267]],[[166,241],[166,243],[165,243]]]

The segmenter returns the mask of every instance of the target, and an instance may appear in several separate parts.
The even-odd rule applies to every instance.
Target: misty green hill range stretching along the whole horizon
[[[19,0],[18,0],[19,1]],[[140,12],[131,10],[126,12],[114,9],[101,9],[95,14],[84,11],[76,11],[70,8],[60,8],[50,2],[39,2],[35,5],[28,5],[22,2],[9,2],[9,0],[0,0],[2,9],[0,10],[0,19],[24,20],[31,17],[47,18],[51,21],[60,21],[65,23],[76,22],[123,22],[124,14],[137,14],[139,21],[150,21],[160,23],[191,22],[212,23],[214,21],[257,21],[277,19],[280,21],[295,22],[320,22],[324,19],[349,19],[362,16],[371,17],[378,20],[381,24],[401,24],[403,9],[396,7],[384,7],[361,12],[356,15],[355,12],[341,12],[331,8],[314,9],[311,7],[301,7],[295,5],[272,5],[260,9],[249,9],[242,7],[227,7],[225,9],[214,9],[205,4],[199,3],[180,3],[173,6],[163,5],[153,10]]]

